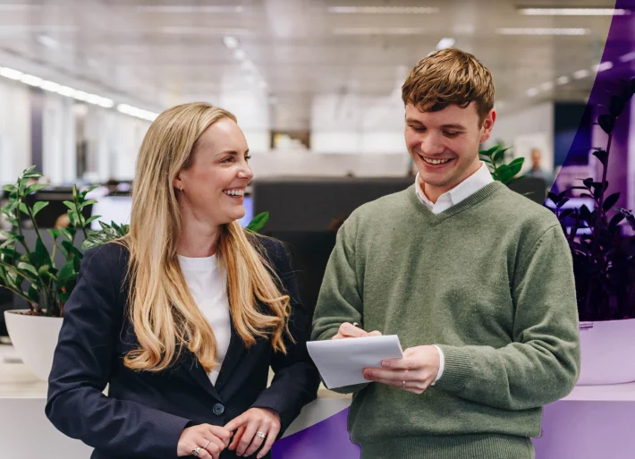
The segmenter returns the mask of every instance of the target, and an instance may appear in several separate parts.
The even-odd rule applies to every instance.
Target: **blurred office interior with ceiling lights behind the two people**
[[[310,303],[351,208],[413,180],[401,86],[420,57],[459,47],[487,65],[498,119],[483,147],[512,147],[546,189],[596,115],[596,78],[631,72],[633,52],[602,58],[614,15],[630,13],[607,0],[0,0],[0,184],[35,165],[42,199],[102,183],[115,196],[99,213],[125,215],[154,117],[223,106],[253,153],[245,223],[271,212],[265,232],[294,244]],[[635,136],[621,144],[618,204],[635,208]],[[588,150],[569,166],[572,180],[597,171]]]

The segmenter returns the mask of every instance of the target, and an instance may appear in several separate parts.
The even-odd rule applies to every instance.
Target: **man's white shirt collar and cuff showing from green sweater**
[[[421,184],[419,183],[419,174],[417,174],[417,177],[415,178],[414,189],[417,192],[417,196],[419,197],[419,200],[423,203],[423,205],[429,208],[433,214],[438,214],[440,212],[443,212],[444,210],[447,210],[448,208],[457,205],[459,202],[461,202],[461,200],[469,198],[472,194],[492,182],[494,182],[492,174],[489,172],[487,165],[483,161],[481,161],[480,167],[478,168],[477,172],[471,174],[468,178],[456,185],[452,190],[445,191],[445,193],[439,196],[439,199],[436,200],[435,203],[433,203],[431,200],[428,200],[428,196],[426,196],[426,193],[421,190]],[[441,362],[439,363],[439,372],[436,374],[436,378],[435,381],[432,383],[432,386],[434,386],[436,381],[441,378],[441,375],[443,375],[445,368],[445,357],[443,351],[436,344],[433,345],[436,347],[436,350],[439,353]]]

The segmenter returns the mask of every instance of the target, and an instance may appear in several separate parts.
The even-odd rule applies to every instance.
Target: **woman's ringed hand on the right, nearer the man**
[[[262,446],[257,456],[260,459],[269,452],[280,433],[280,415],[267,408],[251,408],[229,421],[224,428],[230,431],[238,429],[228,449],[235,449],[236,455],[249,456]],[[256,432],[265,434],[267,438],[258,437]]]

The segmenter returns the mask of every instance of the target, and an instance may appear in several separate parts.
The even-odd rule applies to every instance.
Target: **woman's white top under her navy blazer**
[[[207,374],[212,384],[216,384],[232,336],[227,273],[218,264],[216,255],[196,259],[179,255],[178,258],[192,298],[216,336],[219,363]]]

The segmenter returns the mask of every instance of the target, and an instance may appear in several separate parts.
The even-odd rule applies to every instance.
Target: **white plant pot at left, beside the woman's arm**
[[[27,311],[5,310],[6,329],[15,352],[27,368],[39,379],[47,381],[63,319],[21,314]]]

